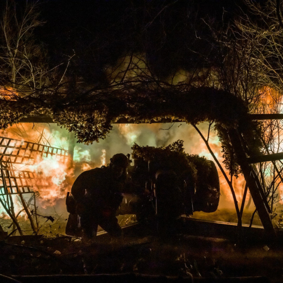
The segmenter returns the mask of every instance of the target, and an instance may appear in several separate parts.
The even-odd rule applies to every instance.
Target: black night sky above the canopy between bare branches
[[[75,54],[69,75],[88,83],[105,82],[105,66],[131,53],[146,54],[162,78],[214,60],[216,46],[202,19],[221,22],[225,10],[227,22],[238,4],[239,0],[48,0],[40,5],[46,24],[35,32],[52,67]]]

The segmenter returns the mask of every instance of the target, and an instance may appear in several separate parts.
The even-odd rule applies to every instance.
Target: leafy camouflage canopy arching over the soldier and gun
[[[15,100],[0,99],[0,104],[1,129],[22,117],[47,111],[58,125],[74,132],[77,141],[84,143],[105,139],[112,124],[121,118],[129,123],[162,123],[164,118],[190,124],[213,121],[227,169],[234,166],[236,159],[229,129],[238,130],[251,156],[257,155],[261,146],[260,129],[250,119],[244,102],[227,91],[211,87],[168,86],[143,81],[84,93],[79,89],[71,94],[45,91]]]

